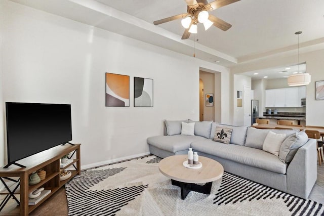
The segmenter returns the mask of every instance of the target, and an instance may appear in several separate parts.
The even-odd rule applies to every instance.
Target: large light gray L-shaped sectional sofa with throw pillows
[[[194,123],[194,136],[188,136],[181,135],[182,122],[193,121],[166,120],[165,135],[147,138],[150,153],[165,158],[187,154],[190,147],[198,155],[220,162],[227,172],[302,198],[308,197],[315,184],[316,141],[308,139],[304,132],[197,121]],[[231,135],[227,136],[230,137],[229,144],[222,143],[222,140],[219,142],[222,128],[231,129]],[[265,145],[269,146],[270,131],[273,132],[271,135],[285,137],[279,143],[277,155],[265,151]],[[218,138],[215,133],[218,133]],[[275,139],[273,143],[278,143]]]

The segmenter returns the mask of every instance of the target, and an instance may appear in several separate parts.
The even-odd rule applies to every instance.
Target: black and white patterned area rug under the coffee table
[[[69,215],[324,215],[321,203],[224,172],[210,195],[180,188],[148,156],[82,171],[66,185]]]

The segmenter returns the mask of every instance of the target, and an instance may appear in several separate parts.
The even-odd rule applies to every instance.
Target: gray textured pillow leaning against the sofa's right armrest
[[[279,151],[279,159],[282,162],[289,163],[293,160],[296,152],[308,141],[307,134],[304,131],[296,132],[282,142]]]

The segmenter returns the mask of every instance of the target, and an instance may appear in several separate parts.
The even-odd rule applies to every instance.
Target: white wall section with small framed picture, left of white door
[[[244,94],[244,86],[251,87],[251,77],[245,75],[234,74],[233,81],[233,124],[234,125],[244,125],[244,106],[242,103],[241,107],[237,107],[237,91],[242,92],[242,97]],[[244,98],[242,98],[244,100]]]

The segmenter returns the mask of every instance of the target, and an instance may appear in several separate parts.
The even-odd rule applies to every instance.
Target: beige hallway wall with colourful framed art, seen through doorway
[[[215,121],[215,74],[200,71],[199,77],[204,82],[204,99],[206,100],[206,94],[214,94],[214,106],[207,107],[204,103],[204,121]]]

